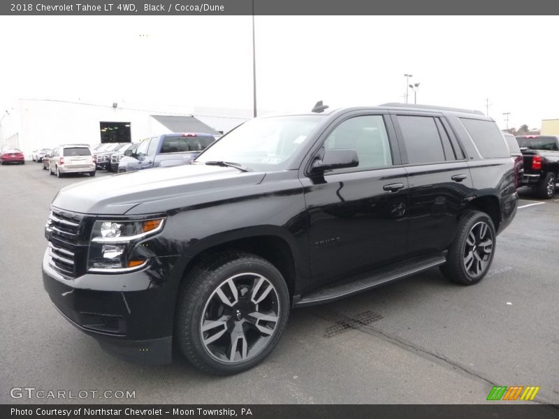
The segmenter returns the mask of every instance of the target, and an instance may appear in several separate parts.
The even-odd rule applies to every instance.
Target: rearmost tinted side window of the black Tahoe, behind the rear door
[[[470,134],[481,157],[495,159],[510,156],[509,149],[495,122],[467,118],[460,118],[460,121]]]

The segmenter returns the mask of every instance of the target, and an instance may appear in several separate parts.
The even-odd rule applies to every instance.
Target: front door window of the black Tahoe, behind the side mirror
[[[331,149],[354,149],[359,157],[358,168],[392,166],[389,136],[382,115],[366,115],[347,119],[338,125],[324,142]]]

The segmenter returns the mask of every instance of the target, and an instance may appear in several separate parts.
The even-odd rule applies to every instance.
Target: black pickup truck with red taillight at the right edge
[[[521,186],[530,186],[540,198],[553,197],[559,175],[559,136],[517,136],[524,159]]]

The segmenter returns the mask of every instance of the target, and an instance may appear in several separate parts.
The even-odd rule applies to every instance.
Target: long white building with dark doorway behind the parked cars
[[[0,146],[20,149],[31,159],[34,149],[61,144],[137,142],[172,132],[225,133],[251,117],[251,110],[173,108],[168,112],[155,106],[20,99],[0,116]]]

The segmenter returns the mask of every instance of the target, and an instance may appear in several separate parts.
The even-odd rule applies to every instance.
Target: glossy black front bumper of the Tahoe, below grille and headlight
[[[117,358],[144,365],[171,361],[174,286],[155,286],[149,267],[126,274],[64,279],[49,261],[47,251],[43,286],[66,320]],[[161,260],[153,263],[164,264]]]

